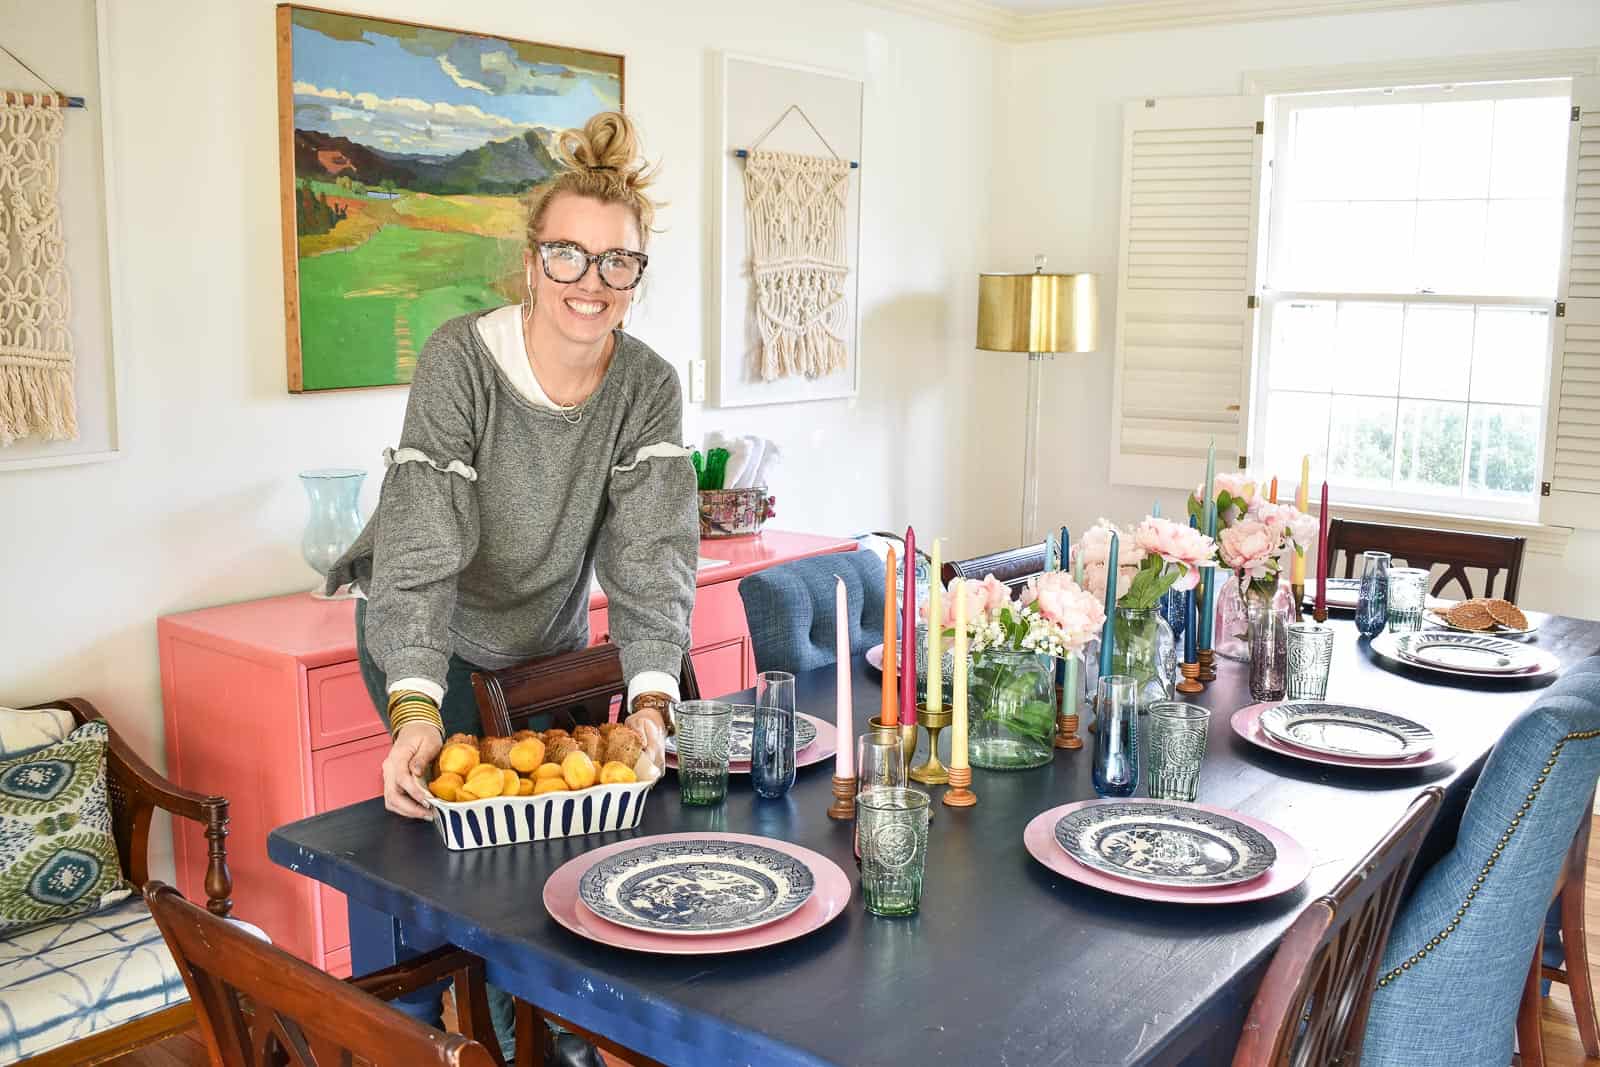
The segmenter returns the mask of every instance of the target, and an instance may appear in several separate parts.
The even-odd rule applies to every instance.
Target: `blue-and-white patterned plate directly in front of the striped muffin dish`
[[[578,899],[600,918],[654,934],[726,934],[774,923],[811,896],[803,862],[746,841],[658,841],[602,859]]]

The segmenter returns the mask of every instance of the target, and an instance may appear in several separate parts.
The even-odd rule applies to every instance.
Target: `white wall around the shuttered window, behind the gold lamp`
[[[1122,181],[1122,115],[1130,99],[1242,91],[1246,70],[1334,66],[1544,48],[1600,46],[1595,0],[1469,3],[1382,14],[1282,19],[1016,45],[1002,64],[1006,106],[997,141],[1010,152],[997,195],[995,250],[1026,266],[1045,251],[1064,270],[1098,270],[1101,352],[1058,358],[1046,374],[1040,515],[1074,530],[1099,515],[1131,522],[1157,491],[1109,483],[1112,314]],[[1016,378],[1013,397],[1022,397]],[[1021,454],[1021,438],[1016,442]],[[1050,470],[1050,458],[1058,458]],[[1195,483],[1200,482],[1195,472]],[[1166,514],[1181,494],[1162,493]],[[1600,614],[1589,560],[1600,534],[1579,533],[1566,557],[1526,558],[1520,600],[1565,614]]]

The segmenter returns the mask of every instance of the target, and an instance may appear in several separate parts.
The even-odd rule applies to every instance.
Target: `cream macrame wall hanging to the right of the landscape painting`
[[[805,118],[805,112],[800,117]],[[811,130],[816,133],[814,125]],[[762,134],[757,144],[765,138]],[[837,154],[829,158],[762,152],[752,146],[746,155],[744,206],[755,318],[762,331],[762,381],[821,378],[848,363],[845,214],[850,168],[851,163]]]

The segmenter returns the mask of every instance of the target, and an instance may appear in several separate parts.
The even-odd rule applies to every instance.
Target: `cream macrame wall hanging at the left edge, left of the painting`
[[[53,93],[0,94],[0,446],[78,435],[58,173],[64,104]]]

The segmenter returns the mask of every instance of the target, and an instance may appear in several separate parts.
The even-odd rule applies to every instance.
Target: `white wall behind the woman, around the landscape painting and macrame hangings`
[[[717,139],[712,50],[867,80],[861,395],[688,413],[688,430],[760,432],[790,462],[781,528],[944,533],[968,477],[946,427],[971,419],[974,278],[990,200],[973,139],[995,110],[998,46],[842,0],[384,0],[397,19],[621,51],[627,106],[662,162],[667,232],[630,330],[674,362],[712,354],[707,301]],[[106,110],[125,213],[130,426],[118,462],[0,472],[0,704],[83,694],[163,765],[155,617],[309,589],[294,474],[378,482],[403,389],[291,397],[283,373],[274,6],[112,0]],[[158,867],[160,869],[160,867]]]

